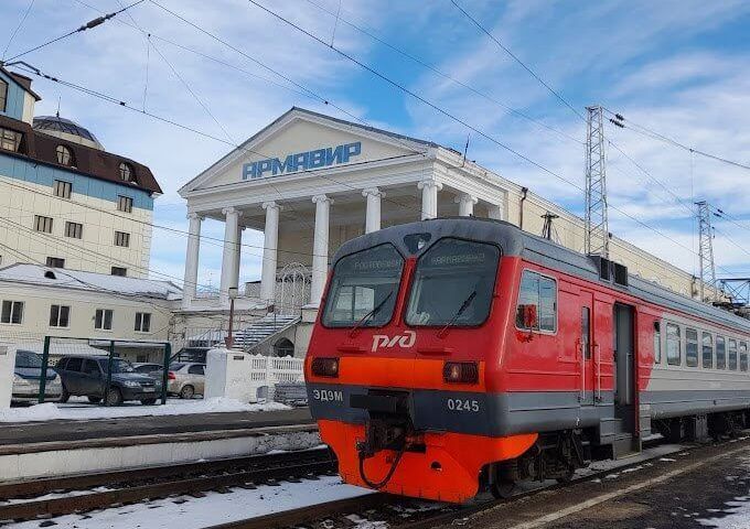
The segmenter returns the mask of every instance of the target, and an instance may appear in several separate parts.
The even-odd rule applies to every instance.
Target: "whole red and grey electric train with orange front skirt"
[[[400,225],[334,257],[306,360],[346,483],[465,501],[735,431],[750,322],[515,226]]]

